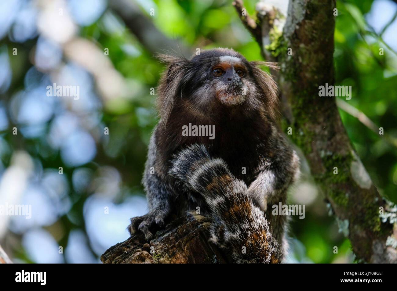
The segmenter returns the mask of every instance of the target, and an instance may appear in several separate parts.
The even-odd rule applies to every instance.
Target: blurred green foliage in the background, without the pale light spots
[[[387,134],[396,138],[396,54],[388,49],[382,39],[367,25],[365,14],[370,12],[372,2],[337,2],[336,83],[351,85],[353,98],[349,103],[365,113],[375,124],[382,126]],[[154,4],[156,11],[161,11],[151,17],[156,27],[170,38],[183,40],[186,46],[192,48],[192,52],[195,48],[222,46],[241,52],[248,60],[261,59],[260,48],[241,25],[231,2],[156,0]],[[255,4],[256,0],[245,1],[247,11],[251,15],[254,15]],[[143,13],[150,17],[148,6],[150,3],[141,8]],[[119,29],[116,32],[109,29],[109,21],[118,23]],[[89,26],[80,26],[78,34],[93,42],[100,50],[108,48],[108,57],[114,68],[121,73],[130,88],[133,88],[127,98],[116,98],[98,109],[100,124],[109,128],[110,135],[106,140],[96,139],[95,158],[79,166],[91,169],[96,173],[93,177],[97,175],[98,167],[109,165],[116,168],[121,174],[122,183],[112,200],[115,203],[123,203],[128,197],[143,193],[141,177],[147,144],[157,122],[156,96],[150,94],[150,88],[157,86],[164,65],[139,43],[112,11],[106,10]],[[25,74],[32,66],[29,54],[35,49],[36,41],[37,37],[22,43],[14,43],[8,37],[1,40],[0,47],[7,46],[12,67],[10,88],[2,94],[2,104],[5,107],[9,105],[13,94],[24,88]],[[12,57],[13,47],[19,50],[18,58]],[[379,48],[385,49],[383,56],[379,55]],[[396,147],[372,132],[357,118],[344,111],[340,113],[351,142],[372,180],[385,197],[397,202]],[[52,119],[54,117],[55,115]],[[42,134],[34,138],[23,134],[10,134],[14,125],[23,128],[23,124],[14,124],[15,121],[10,119],[8,129],[0,135],[8,147],[6,150],[6,146],[2,144],[3,170],[10,165],[12,153],[17,149],[26,150],[40,163],[42,169],[63,167],[69,185],[67,195],[71,201],[71,208],[59,217],[57,222],[45,228],[56,238],[59,245],[63,246],[67,245],[72,230],[82,230],[87,235],[88,246],[91,248],[93,239],[87,231],[83,209],[85,202],[95,190],[87,187],[83,192],[77,191],[73,183],[73,174],[79,167],[69,167],[60,151],[48,144],[47,136],[52,119],[44,124]],[[291,202],[294,201],[291,198]],[[292,219],[291,235],[296,238],[291,245],[295,261],[328,263],[350,262],[353,259],[350,243],[338,232],[337,223],[328,215],[326,202],[321,194],[306,207],[305,219]],[[338,247],[338,254],[333,253],[335,246]],[[96,256],[100,255],[92,248],[91,251]],[[15,245],[14,256],[26,262],[34,262],[20,245]]]

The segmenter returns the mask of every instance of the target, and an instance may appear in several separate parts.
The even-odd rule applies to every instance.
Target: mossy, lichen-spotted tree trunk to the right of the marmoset
[[[283,112],[291,113],[284,124],[292,128],[290,137],[302,149],[335,215],[348,228],[358,261],[397,262],[396,249],[386,243],[388,237],[396,239],[396,226],[380,218],[380,210],[387,209],[385,200],[351,145],[335,98],[319,96],[319,86],[335,82],[334,8],[335,0],[290,0],[275,59],[281,66],[276,75],[280,94],[287,100]]]

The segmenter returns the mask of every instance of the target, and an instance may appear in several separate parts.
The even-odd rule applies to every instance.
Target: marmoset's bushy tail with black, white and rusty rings
[[[280,262],[279,244],[264,213],[222,159],[211,158],[204,145],[191,145],[176,155],[171,174],[202,195],[210,217],[193,217],[203,222],[210,240],[230,253],[234,262]]]

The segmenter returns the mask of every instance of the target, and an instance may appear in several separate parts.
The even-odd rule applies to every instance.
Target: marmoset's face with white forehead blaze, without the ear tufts
[[[250,64],[233,50],[202,52],[191,62],[197,67],[196,80],[200,80],[195,94],[198,103],[217,101],[226,106],[237,106],[256,91]]]

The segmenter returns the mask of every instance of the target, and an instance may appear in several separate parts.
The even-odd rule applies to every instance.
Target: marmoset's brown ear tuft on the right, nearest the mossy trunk
[[[266,66],[271,69],[278,70],[279,67],[277,63],[270,63],[264,61],[251,61],[252,73],[258,85],[263,91],[263,102],[265,109],[269,117],[273,121],[277,121],[279,117],[279,98],[278,98],[278,88],[276,82],[274,82],[272,76],[268,73],[262,71],[260,67]]]

